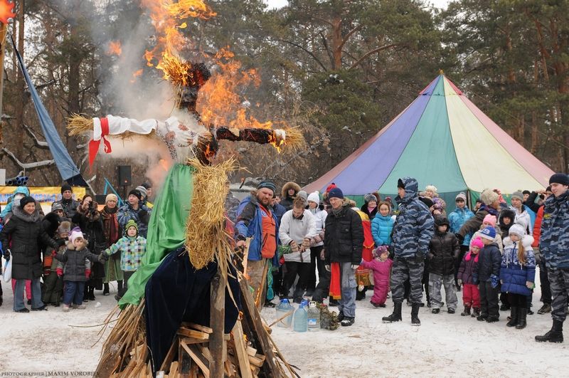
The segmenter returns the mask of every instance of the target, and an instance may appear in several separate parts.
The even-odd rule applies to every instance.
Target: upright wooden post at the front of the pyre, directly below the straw
[[[213,332],[209,339],[209,352],[211,359],[209,369],[211,377],[223,378],[223,356],[225,353],[223,344],[223,328],[225,325],[225,285],[227,276],[220,268],[211,280],[211,300],[210,300],[210,325]]]

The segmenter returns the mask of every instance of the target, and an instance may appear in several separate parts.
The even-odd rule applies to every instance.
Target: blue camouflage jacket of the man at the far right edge
[[[548,268],[569,268],[569,191],[546,199],[539,250],[546,258]]]

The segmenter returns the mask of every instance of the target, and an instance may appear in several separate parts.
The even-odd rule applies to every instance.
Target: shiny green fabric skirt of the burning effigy
[[[168,172],[150,216],[147,253],[142,258],[142,266],[129,279],[127,293],[119,300],[121,308],[128,303],[138,305],[150,276],[162,259],[184,246],[186,219],[193,196],[193,171],[193,167],[175,164]]]

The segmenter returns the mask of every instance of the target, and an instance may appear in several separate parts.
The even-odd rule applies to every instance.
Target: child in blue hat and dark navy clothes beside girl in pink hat
[[[498,285],[500,276],[501,253],[496,244],[496,229],[486,226],[480,232],[484,248],[480,251],[475,274],[479,280],[480,315],[477,320],[497,322],[500,319],[498,306]]]

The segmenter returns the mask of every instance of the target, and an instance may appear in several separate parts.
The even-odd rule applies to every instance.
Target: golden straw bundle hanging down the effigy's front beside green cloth
[[[196,172],[193,174],[191,210],[186,221],[186,249],[192,265],[201,269],[213,261],[215,253],[225,257],[225,251],[230,249],[224,231],[224,205],[229,191],[227,173],[235,170],[235,159],[212,166],[190,159],[188,164],[196,168]],[[218,263],[223,260],[225,258],[218,258]]]

